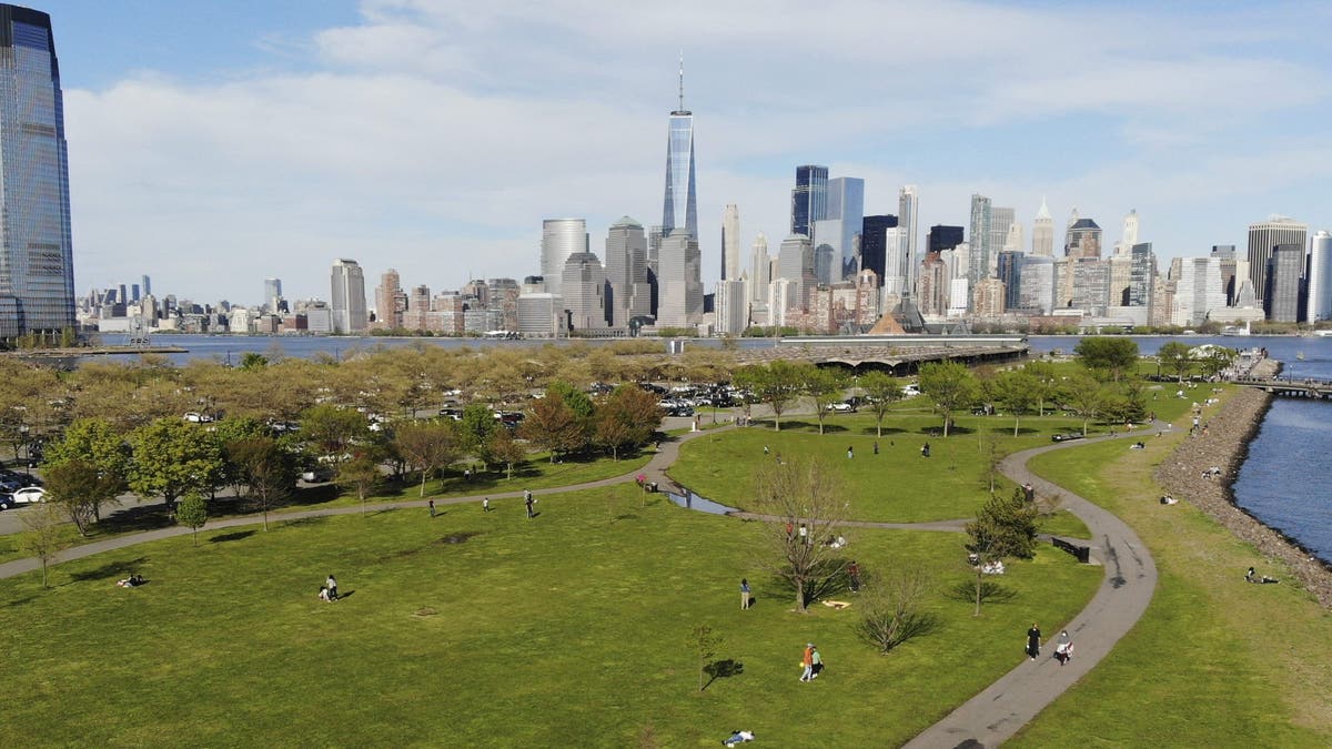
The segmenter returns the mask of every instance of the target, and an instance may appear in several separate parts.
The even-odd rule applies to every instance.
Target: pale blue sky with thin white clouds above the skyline
[[[1271,215],[1332,229],[1327,3],[49,0],[79,293],[329,297],[360,261],[405,288],[539,273],[541,223],[659,224],[678,59],[703,281],[726,204],[742,256],[790,228],[795,167],[920,195],[1044,197],[1163,269]]]

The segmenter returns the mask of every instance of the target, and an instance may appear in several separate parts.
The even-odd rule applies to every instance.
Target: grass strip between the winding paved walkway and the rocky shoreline
[[[1163,490],[1151,473],[1179,438],[1134,452],[1088,445],[1032,461],[1128,521],[1151,548],[1160,582],[1138,626],[1014,745],[1071,737],[1094,746],[1332,745],[1332,618],[1192,505],[1158,502]],[[1249,565],[1285,584],[1247,585]]]

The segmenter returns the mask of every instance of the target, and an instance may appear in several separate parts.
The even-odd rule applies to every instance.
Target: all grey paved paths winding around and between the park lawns
[[[646,476],[647,481],[654,481],[662,486],[675,485],[666,476],[666,469],[675,462],[679,457],[679,446],[693,438],[701,437],[709,433],[717,433],[722,430],[734,429],[733,425],[721,426],[715,429],[709,429],[705,432],[690,432],[679,437],[670,438],[659,444],[657,454],[653,456],[647,465],[642,469],[633,470],[621,476],[614,476],[610,478],[602,478],[598,481],[587,481],[583,484],[573,484],[569,486],[559,486],[551,489],[542,489],[534,492],[537,496],[557,494],[565,492],[577,492],[582,489],[595,489],[601,486],[613,486],[618,484],[625,484],[627,481],[635,480],[639,474]],[[1135,432],[1124,437],[1135,437],[1139,434],[1148,434],[1150,429],[1143,432]],[[1123,437],[1094,437],[1090,440],[1078,440],[1074,442],[1059,442],[1052,445],[1044,445],[1040,448],[1032,448],[1019,453],[1014,453],[1006,457],[1000,465],[1000,469],[1006,476],[1018,484],[1031,482],[1036,486],[1038,492],[1047,496],[1060,496],[1063,500],[1062,506],[1076,514],[1087,528],[1092,532],[1094,546],[1092,553],[1098,561],[1100,561],[1106,568],[1106,578],[1100,585],[1100,589],[1084,608],[1067,626],[1062,629],[1068,629],[1072,633],[1074,642],[1078,644],[1078,657],[1068,662],[1067,666],[1059,666],[1054,658],[1043,657],[1035,662],[1022,661],[1016,668],[1004,674],[995,681],[983,692],[972,697],[970,701],[955,709],[942,721],[927,728],[914,740],[911,740],[907,746],[911,748],[955,748],[959,745],[967,746],[995,746],[1014,733],[1018,732],[1023,725],[1031,721],[1036,714],[1043,710],[1050,702],[1064,693],[1070,686],[1072,686],[1083,674],[1090,672],[1110,649],[1123,637],[1142,617],[1143,612],[1147,610],[1147,605],[1151,602],[1152,593],[1156,588],[1156,565],[1152,561],[1151,553],[1138,538],[1127,524],[1115,517],[1114,514],[1106,512],[1104,509],[1091,504],[1083,497],[1074,494],[1044,478],[1032,474],[1027,469],[1027,461],[1040,453],[1050,450],[1071,448],[1088,442],[1098,442],[1108,438],[1123,438]],[[1130,438],[1123,438],[1123,441],[1130,444]],[[476,494],[466,497],[446,497],[436,498],[436,505],[457,505],[468,502],[480,502],[482,497],[490,497],[493,500],[502,498],[517,498],[522,497],[522,492],[502,492],[502,493],[489,493],[489,494]],[[424,508],[429,498],[398,501],[398,502],[381,502],[374,505],[368,505],[365,509],[401,509],[401,508]],[[364,512],[361,506],[340,506],[340,508],[322,508],[313,510],[301,512],[286,512],[277,513],[276,520],[301,520],[308,517],[326,517],[334,514],[356,514]],[[761,518],[761,516],[753,516],[750,513],[730,513],[735,517],[750,517]],[[261,516],[242,516],[226,520],[218,520],[209,524],[209,529],[222,529],[222,528],[237,528],[245,525],[258,525],[264,520]],[[847,525],[866,526],[866,528],[902,528],[914,530],[946,530],[958,532],[962,530],[964,520],[947,520],[936,522],[868,522],[868,521],[848,521]],[[63,561],[71,561],[77,558],[84,558],[101,552],[108,552],[113,549],[123,549],[125,546],[132,546],[136,544],[143,544],[147,541],[155,541],[159,538],[169,538],[173,536],[184,536],[190,533],[189,528],[163,528],[159,530],[148,530],[144,533],[133,533],[128,536],[120,536],[116,538],[108,538],[105,541],[96,541],[92,544],[85,544],[81,546],[75,546],[65,549],[56,556],[53,564]],[[23,574],[25,572],[32,572],[40,569],[41,562],[36,558],[21,558],[0,564],[0,580],[7,577],[13,577],[16,574]],[[1014,633],[1016,638],[1018,633]]]

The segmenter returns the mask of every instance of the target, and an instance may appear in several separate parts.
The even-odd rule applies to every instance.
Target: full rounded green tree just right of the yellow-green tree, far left
[[[222,474],[221,448],[198,424],[159,418],[136,429],[129,444],[129,488],[140,497],[163,497],[168,509],[185,492],[214,486]]]

